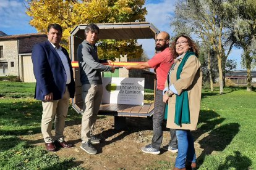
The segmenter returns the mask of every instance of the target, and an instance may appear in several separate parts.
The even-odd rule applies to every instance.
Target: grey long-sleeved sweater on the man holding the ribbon
[[[80,81],[82,84],[102,84],[101,72],[110,71],[111,67],[100,63],[97,47],[84,40],[77,49]]]

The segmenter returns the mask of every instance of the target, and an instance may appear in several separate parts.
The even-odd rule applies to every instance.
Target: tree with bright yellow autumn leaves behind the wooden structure
[[[70,31],[82,23],[145,22],[145,0],[27,0],[30,25],[46,33],[49,23],[63,28],[62,40],[67,46]],[[66,44],[65,44],[66,43]],[[140,57],[143,50],[137,40],[105,40],[99,42],[100,58],[114,59],[120,54]]]

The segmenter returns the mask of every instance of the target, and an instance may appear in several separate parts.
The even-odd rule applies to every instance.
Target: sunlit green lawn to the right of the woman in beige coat
[[[256,92],[244,87],[203,91],[195,136],[200,169],[256,169]]]

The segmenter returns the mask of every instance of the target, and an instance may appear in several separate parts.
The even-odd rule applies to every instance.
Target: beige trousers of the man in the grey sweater
[[[82,86],[83,116],[81,138],[83,143],[91,139],[102,94],[102,84],[83,84]]]

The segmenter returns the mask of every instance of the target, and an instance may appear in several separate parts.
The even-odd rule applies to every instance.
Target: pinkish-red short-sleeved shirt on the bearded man
[[[163,91],[166,77],[173,62],[173,55],[169,47],[162,52],[158,52],[152,59],[148,60],[148,65],[156,70],[157,89]]]

